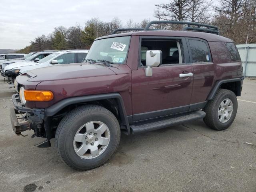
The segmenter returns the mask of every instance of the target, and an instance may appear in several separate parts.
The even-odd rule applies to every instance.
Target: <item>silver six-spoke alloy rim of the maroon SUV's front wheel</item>
[[[108,126],[100,121],[90,121],[81,126],[73,139],[76,154],[83,159],[93,159],[100,156],[108,147],[110,131]]]

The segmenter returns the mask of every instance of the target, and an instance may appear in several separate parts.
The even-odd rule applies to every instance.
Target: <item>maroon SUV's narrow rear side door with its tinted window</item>
[[[186,38],[193,68],[193,92],[190,110],[203,108],[214,81],[214,64],[208,42],[199,38]]]

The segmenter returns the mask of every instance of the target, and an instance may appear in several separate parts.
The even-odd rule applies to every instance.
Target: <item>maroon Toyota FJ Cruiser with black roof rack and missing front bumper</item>
[[[150,29],[156,23],[187,27]],[[243,80],[232,40],[218,35],[216,26],[191,22],[156,21],[128,30],[141,31],[97,38],[82,63],[18,76],[10,108],[14,132],[34,130],[32,138],[46,138],[39,147],[55,138],[62,160],[87,170],[114,154],[120,132],[200,118],[215,130],[232,124]]]

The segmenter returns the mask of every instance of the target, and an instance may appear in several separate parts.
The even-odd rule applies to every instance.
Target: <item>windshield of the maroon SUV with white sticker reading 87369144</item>
[[[86,59],[106,60],[114,64],[122,64],[126,59],[129,44],[130,36],[96,40],[93,42]]]

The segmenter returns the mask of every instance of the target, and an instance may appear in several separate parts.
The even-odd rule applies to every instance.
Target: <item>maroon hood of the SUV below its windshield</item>
[[[73,63],[38,68],[27,72],[28,81],[55,81],[74,78],[116,75],[110,68],[99,64]]]

